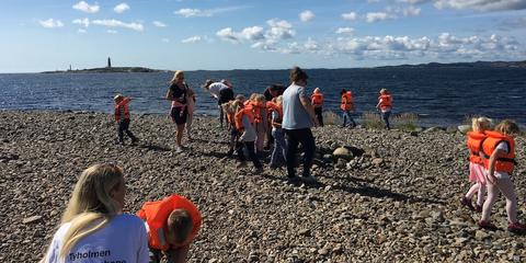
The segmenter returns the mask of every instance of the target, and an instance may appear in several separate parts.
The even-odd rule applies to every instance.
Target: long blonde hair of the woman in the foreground
[[[118,187],[124,187],[124,176],[123,169],[117,165],[95,164],[82,172],[62,215],[60,225],[71,225],[64,236],[60,258],[66,256],[79,240],[103,228],[121,213],[121,204],[111,196],[111,192]]]

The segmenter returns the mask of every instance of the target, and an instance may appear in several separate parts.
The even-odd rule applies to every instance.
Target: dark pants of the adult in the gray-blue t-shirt
[[[305,150],[304,157],[304,176],[310,175],[310,168],[312,167],[312,160],[315,158],[316,141],[310,128],[302,129],[284,129],[286,136],[286,158],[287,161],[287,175],[288,178],[296,176],[296,151],[298,145],[301,144]]]

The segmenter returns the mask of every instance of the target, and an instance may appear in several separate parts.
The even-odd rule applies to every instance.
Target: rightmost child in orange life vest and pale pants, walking
[[[490,214],[500,191],[506,198],[507,230],[512,232],[526,231],[526,226],[517,220],[517,196],[510,178],[515,167],[515,139],[513,136],[518,133],[518,126],[508,119],[496,125],[494,132],[485,132],[488,138],[482,142],[482,151],[484,167],[488,169],[488,198],[482,207],[482,217],[479,221],[481,228],[495,229],[495,226],[490,222]]]

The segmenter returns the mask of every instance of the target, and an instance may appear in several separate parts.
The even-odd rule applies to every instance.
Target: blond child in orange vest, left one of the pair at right
[[[468,133],[467,145],[470,152],[469,181],[474,184],[471,185],[466,196],[462,197],[460,204],[467,206],[470,210],[481,213],[485,196],[485,169],[480,153],[482,152],[482,142],[487,137],[484,132],[490,128],[490,119],[487,117],[474,117],[471,119],[471,128],[472,132]],[[471,204],[474,193],[477,193],[476,207]]]

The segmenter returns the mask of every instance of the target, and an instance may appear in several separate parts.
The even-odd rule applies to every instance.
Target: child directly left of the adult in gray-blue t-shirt
[[[282,129],[283,119],[283,96],[275,99],[275,103],[270,102],[272,108],[272,136],[274,137],[274,150],[271,156],[271,169],[276,169],[285,161],[285,135]]]

